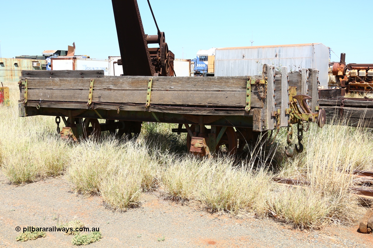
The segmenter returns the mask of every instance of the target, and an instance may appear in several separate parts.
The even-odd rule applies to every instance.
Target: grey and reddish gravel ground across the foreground
[[[101,197],[71,193],[63,178],[10,185],[0,174],[0,247],[76,247],[73,236],[47,232],[45,238],[16,242],[23,227],[53,227],[81,220],[98,227],[103,239],[89,247],[372,247],[373,235],[358,226],[295,230],[273,219],[229,218],[144,194],[143,204],[127,212],[106,209]],[[21,227],[21,232],[15,228]],[[158,238],[164,237],[164,241]]]

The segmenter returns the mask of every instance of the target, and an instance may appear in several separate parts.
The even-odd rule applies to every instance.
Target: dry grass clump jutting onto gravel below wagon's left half
[[[141,194],[157,184],[157,163],[147,148],[134,141],[88,140],[75,147],[69,161],[67,177],[74,189],[102,195],[113,209],[138,206]]]

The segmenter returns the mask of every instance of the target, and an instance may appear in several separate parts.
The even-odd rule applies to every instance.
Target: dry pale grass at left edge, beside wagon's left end
[[[11,99],[15,97],[11,91]],[[0,166],[15,184],[33,182],[39,178],[58,176],[63,172],[66,142],[57,139],[53,117],[18,117],[18,106],[0,106]]]

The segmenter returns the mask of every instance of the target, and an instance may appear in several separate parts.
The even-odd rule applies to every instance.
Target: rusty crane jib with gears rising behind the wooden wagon
[[[147,35],[141,22],[136,0],[112,0],[124,76],[173,76],[175,55],[169,51],[164,32],[157,27],[156,35]],[[150,48],[148,44],[159,44]]]

